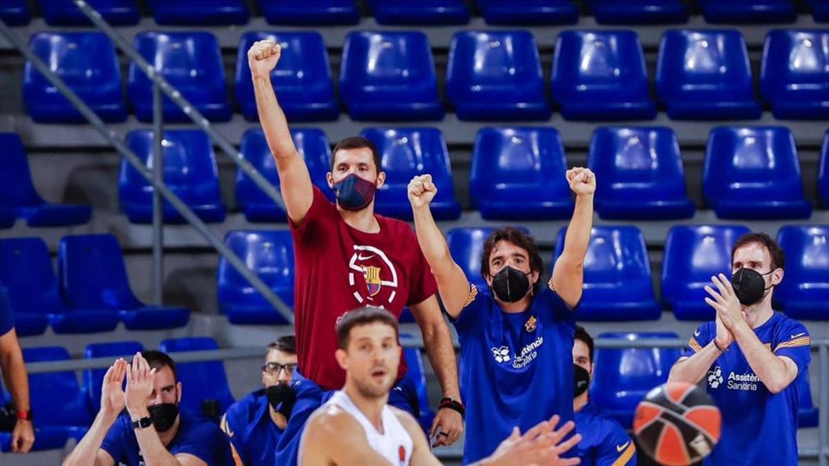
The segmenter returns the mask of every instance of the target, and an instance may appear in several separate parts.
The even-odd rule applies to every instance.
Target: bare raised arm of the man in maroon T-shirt
[[[279,107],[274,87],[270,83],[270,72],[279,61],[281,52],[281,47],[274,41],[257,41],[248,51],[248,65],[254,81],[259,122],[262,123],[264,137],[268,141],[270,152],[274,154],[279,172],[279,190],[288,217],[293,223],[299,224],[311,208],[313,185],[305,161],[293,146],[288,120]]]

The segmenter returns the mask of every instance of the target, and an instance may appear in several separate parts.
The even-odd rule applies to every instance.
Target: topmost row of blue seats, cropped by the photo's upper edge
[[[90,21],[71,0],[36,0],[51,26],[85,26]],[[138,24],[141,12],[135,0],[89,0],[110,24]],[[328,26],[356,24],[360,11],[354,0],[257,0],[269,24]],[[570,0],[476,0],[484,21],[492,25],[573,24],[579,11]],[[794,22],[797,7],[790,0],[697,0],[706,22]],[[807,0],[815,21],[829,21],[829,7],[822,0]],[[160,25],[241,25],[250,19],[244,0],[149,0],[155,22]],[[462,25],[470,19],[463,0],[368,0],[378,24]],[[589,0],[589,12],[603,24],[680,23],[688,20],[682,0]],[[21,26],[30,21],[24,0],[4,0],[0,18]]]

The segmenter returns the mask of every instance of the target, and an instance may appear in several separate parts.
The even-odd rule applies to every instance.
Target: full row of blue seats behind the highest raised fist
[[[235,100],[256,120],[247,51],[254,41],[282,45],[274,89],[293,121],[337,119],[332,76],[317,32],[248,32],[240,39]],[[102,119],[127,118],[114,46],[100,32],[38,32],[30,47]],[[207,119],[227,121],[224,64],[209,32],[143,32],[133,46]],[[765,41],[760,94],[778,119],[829,119],[829,31],[774,30]],[[446,100],[458,119],[550,119],[541,57],[526,31],[461,31],[449,47]],[[730,30],[671,30],[662,37],[657,97],[671,119],[758,119],[743,36]],[[653,119],[642,45],[633,31],[565,31],[556,41],[550,96],[565,119]],[[130,63],[127,95],[139,121],[153,118],[153,85]],[[422,32],[351,32],[342,52],[342,104],[355,120],[444,118],[429,41]],[[85,119],[27,61],[23,100],[39,123]],[[167,121],[189,121],[164,97]]]

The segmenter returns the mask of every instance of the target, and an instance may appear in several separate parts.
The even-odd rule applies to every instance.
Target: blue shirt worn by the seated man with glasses
[[[284,430],[270,419],[264,388],[231,405],[221,430],[230,439],[236,464],[276,464],[276,445]]]

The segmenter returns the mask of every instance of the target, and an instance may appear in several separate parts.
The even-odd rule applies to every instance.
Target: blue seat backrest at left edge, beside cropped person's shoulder
[[[0,240],[0,282],[8,288],[9,302],[17,313],[64,310],[51,256],[41,238]]]

